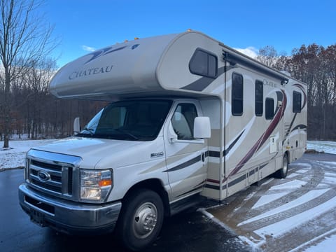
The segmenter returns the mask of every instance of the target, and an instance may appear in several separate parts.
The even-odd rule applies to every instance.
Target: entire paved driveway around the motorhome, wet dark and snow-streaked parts
[[[290,165],[286,179],[267,178],[259,186],[228,197],[221,206],[217,202],[203,202],[199,207],[207,209],[205,214],[210,213],[214,218],[197,208],[167,218],[158,239],[144,251],[289,251],[293,248],[303,251],[320,241],[316,237],[323,239],[325,234],[335,230],[336,204],[280,235],[267,233],[265,229],[290,218],[300,218],[300,214],[336,199],[334,162],[336,155],[305,154]],[[22,181],[22,169],[0,172],[0,251],[101,251],[106,248],[125,251],[113,234],[73,237],[31,223],[18,203],[18,186]],[[294,181],[299,186],[286,187]],[[319,197],[286,208],[288,202],[297,202],[311,191],[320,192]],[[272,200],[260,204],[260,198],[265,195]],[[270,212],[279,208],[283,209]]]

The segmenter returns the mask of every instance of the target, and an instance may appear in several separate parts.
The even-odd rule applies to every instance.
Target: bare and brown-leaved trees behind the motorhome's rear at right
[[[290,56],[278,55],[268,45],[257,59],[307,83],[308,139],[336,140],[336,44],[302,45]]]

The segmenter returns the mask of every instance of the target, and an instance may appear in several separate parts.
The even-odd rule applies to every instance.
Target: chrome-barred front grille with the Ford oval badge
[[[73,167],[41,162],[33,158],[29,158],[27,161],[29,162],[31,185],[59,195],[72,195]]]

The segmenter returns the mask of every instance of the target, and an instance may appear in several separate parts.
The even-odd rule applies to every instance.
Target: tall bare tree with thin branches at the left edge
[[[31,62],[38,62],[55,48],[53,28],[38,15],[41,1],[0,0],[0,59],[3,65],[3,148],[9,146],[10,85]]]

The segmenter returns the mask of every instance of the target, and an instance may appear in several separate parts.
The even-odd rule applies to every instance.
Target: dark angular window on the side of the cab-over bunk
[[[197,49],[189,62],[191,73],[210,78],[217,77],[217,56],[205,50]]]

